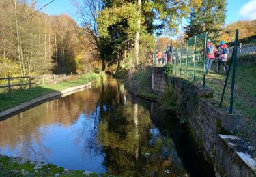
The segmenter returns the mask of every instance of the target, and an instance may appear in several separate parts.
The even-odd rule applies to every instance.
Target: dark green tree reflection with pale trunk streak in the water
[[[152,131],[150,112],[131,97],[123,106],[121,86],[112,95],[112,105],[102,111],[98,139],[105,153],[104,165],[110,174],[121,176],[170,176],[185,174],[171,138]],[[105,93],[106,94],[106,93]],[[108,93],[109,94],[109,93]],[[124,101],[124,100],[123,100]],[[159,132],[159,131],[156,131]],[[148,154],[147,154],[148,153]]]

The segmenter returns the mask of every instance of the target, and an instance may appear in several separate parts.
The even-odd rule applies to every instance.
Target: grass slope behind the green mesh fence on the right
[[[182,61],[183,62],[183,61]],[[195,63],[195,84],[203,85],[203,63],[197,61]],[[212,63],[212,71],[206,75],[205,86],[214,89],[214,99],[218,102],[221,101],[221,95],[223,92],[223,86],[225,83],[226,75],[223,73],[223,66],[221,66],[221,74],[216,74],[216,62]],[[244,65],[244,63],[238,63],[236,66],[236,86],[235,86],[235,98],[234,98],[234,111],[256,120],[256,66],[255,65]],[[188,62],[187,73],[186,63],[177,65],[173,74],[182,78],[186,78],[191,82],[193,80],[194,63]],[[181,74],[180,74],[180,71]],[[176,73],[176,74],[175,74]],[[229,74],[229,80],[227,82],[227,89],[225,91],[223,99],[223,107],[229,107],[230,93],[231,93],[231,75]]]

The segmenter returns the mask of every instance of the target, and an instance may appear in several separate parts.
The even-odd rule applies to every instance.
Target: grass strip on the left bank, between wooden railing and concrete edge
[[[25,103],[36,97],[40,97],[47,93],[52,93],[54,91],[61,91],[66,88],[71,88],[73,86],[79,86],[82,84],[87,84],[88,82],[96,82],[104,78],[104,74],[84,74],[79,78],[71,78],[71,80],[64,80],[59,84],[49,84],[33,86],[31,89],[14,89],[10,93],[2,92],[0,93],[0,111],[6,110],[8,108],[13,108],[14,106],[20,105],[20,103]]]

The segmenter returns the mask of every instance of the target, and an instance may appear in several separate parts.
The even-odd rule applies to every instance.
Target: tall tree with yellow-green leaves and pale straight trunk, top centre
[[[97,18],[100,37],[110,38],[116,42],[121,38],[116,29],[120,30],[117,27],[122,27],[121,30],[127,36],[126,44],[131,43],[130,46],[133,46],[130,50],[134,52],[134,67],[136,68],[138,59],[141,57],[139,44],[142,35],[150,37],[149,35],[152,35],[154,31],[158,34],[167,31],[175,33],[182,18],[189,14],[191,7],[199,7],[201,0],[175,2],[105,0],[104,5],[104,10]],[[156,24],[156,22],[158,23]],[[115,34],[119,35],[111,36],[113,30]],[[127,46],[126,44],[124,46]],[[122,50],[126,50],[126,48],[122,48]],[[121,53],[125,54],[126,52]]]

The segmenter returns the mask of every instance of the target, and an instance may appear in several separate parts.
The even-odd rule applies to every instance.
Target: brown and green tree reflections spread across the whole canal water
[[[51,153],[42,144],[44,127],[79,123],[74,144],[82,146],[84,154],[104,152],[102,165],[110,174],[166,176],[167,169],[170,176],[184,174],[173,140],[162,136],[162,131],[152,124],[152,120],[158,120],[159,112],[150,112],[148,106],[126,94],[122,82],[110,79],[89,91],[49,101],[20,117],[1,121],[0,146],[15,149],[20,145],[17,151],[23,157],[43,159]]]

